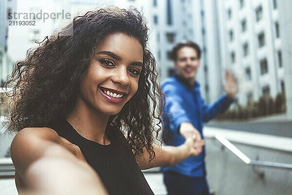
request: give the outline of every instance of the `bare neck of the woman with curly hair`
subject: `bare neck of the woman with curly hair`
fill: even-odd
[[[109,115],[96,112],[92,106],[84,101],[78,101],[74,111],[66,120],[83,137],[99,144],[108,145],[110,140],[106,136]]]

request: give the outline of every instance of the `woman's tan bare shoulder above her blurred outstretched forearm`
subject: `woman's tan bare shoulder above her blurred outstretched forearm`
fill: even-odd
[[[86,161],[77,145],[60,137],[55,130],[47,127],[22,129],[11,144],[11,158],[21,177],[24,176],[27,168],[41,157],[64,157],[67,152],[77,159]]]

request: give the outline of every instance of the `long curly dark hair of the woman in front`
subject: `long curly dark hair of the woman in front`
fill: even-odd
[[[79,92],[80,76],[85,73],[99,43],[108,35],[121,32],[133,37],[144,49],[143,69],[136,94],[122,111],[110,116],[108,125],[127,129],[127,139],[134,155],[155,157],[154,135],[161,130],[163,93],[159,85],[156,61],[147,49],[148,28],[137,9],[114,6],[77,16],[58,33],[46,38],[16,62],[7,79],[13,87],[8,107],[10,131],[25,127],[43,127],[66,117],[74,108]]]

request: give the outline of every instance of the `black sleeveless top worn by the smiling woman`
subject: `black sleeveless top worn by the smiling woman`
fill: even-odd
[[[124,135],[107,128],[109,145],[82,137],[66,119],[49,125],[59,136],[76,144],[87,162],[97,172],[110,195],[154,195],[150,189]]]

